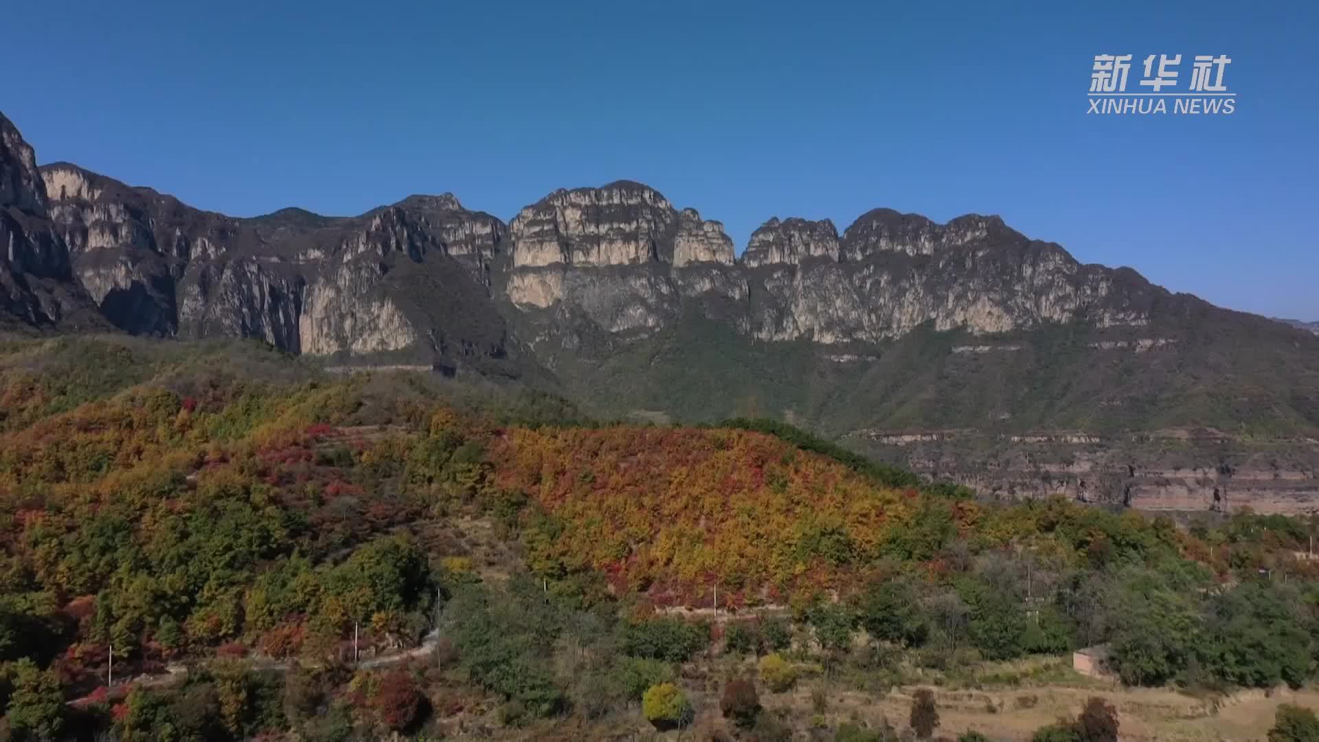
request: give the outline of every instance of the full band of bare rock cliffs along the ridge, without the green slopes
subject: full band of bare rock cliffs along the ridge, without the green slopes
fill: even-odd
[[[1165,296],[1134,272],[1080,265],[975,214],[939,224],[876,209],[842,235],[828,219],[773,218],[736,257],[720,222],[632,181],[557,190],[508,224],[448,193],[351,218],[233,218],[75,165],[38,169],[3,123],[5,301],[33,322],[62,312],[22,288],[45,277],[137,334],[500,358],[520,331],[625,341],[687,312],[760,341],[845,345],[926,323],[973,334],[1074,320],[1144,326]]]

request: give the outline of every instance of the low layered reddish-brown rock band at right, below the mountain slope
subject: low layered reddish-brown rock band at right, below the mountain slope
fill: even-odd
[[[1151,512],[1319,512],[1319,442],[1207,429],[1096,434],[1051,430],[860,430],[872,455],[987,496],[1068,499]]]

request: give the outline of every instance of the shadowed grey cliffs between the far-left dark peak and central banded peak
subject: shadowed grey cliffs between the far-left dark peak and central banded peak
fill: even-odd
[[[452,194],[355,218],[285,209],[237,219],[69,164],[41,174],[73,273],[128,331],[251,337],[317,355],[410,353],[446,367],[505,353],[488,290],[505,227]],[[446,296],[429,293],[441,285]],[[481,320],[437,327],[435,306]]]

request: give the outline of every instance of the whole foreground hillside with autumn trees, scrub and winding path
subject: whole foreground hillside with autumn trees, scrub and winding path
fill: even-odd
[[[976,500],[782,424],[244,343],[0,346],[0,519],[15,738],[881,739],[840,698],[1099,643],[1126,685],[1298,688],[1319,646],[1297,519]]]

